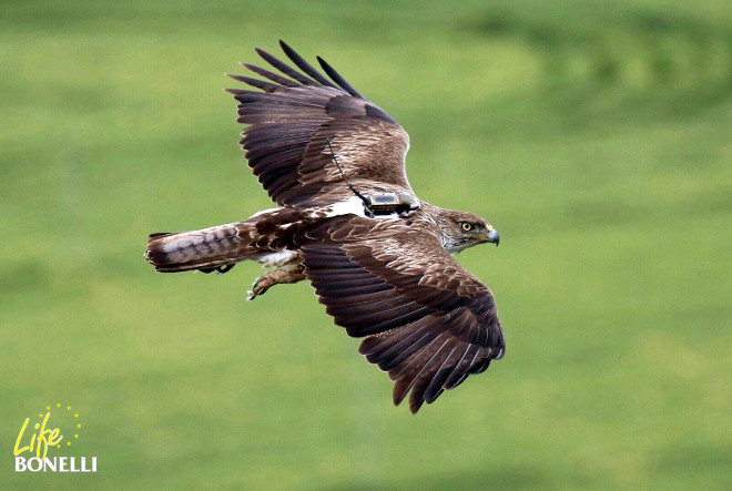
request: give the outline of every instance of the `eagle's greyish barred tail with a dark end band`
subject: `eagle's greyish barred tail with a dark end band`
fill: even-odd
[[[256,247],[250,245],[250,234],[246,233],[251,226],[241,222],[179,234],[151,234],[145,259],[162,273],[191,269],[226,273],[234,264],[257,253]]]

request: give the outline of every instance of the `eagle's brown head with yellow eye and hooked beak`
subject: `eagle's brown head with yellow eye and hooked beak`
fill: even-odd
[[[450,254],[478,244],[498,245],[498,232],[478,215],[446,209],[440,218],[437,222],[443,231],[443,246]]]

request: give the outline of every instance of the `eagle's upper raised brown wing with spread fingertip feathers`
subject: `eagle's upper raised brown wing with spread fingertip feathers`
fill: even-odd
[[[237,121],[250,125],[240,143],[270,197],[279,205],[312,206],[352,194],[331,147],[359,191],[411,193],[404,163],[409,136],[401,126],[319,57],[331,80],[279,44],[302,72],[257,49],[282,74],[244,64],[267,81],[230,76],[264,92],[227,89],[238,101]]]

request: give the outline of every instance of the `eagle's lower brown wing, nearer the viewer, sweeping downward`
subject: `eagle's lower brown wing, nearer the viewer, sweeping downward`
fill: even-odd
[[[398,221],[338,216],[297,239],[305,274],[359,351],[388,371],[394,403],[417,412],[504,356],[488,288],[437,237]]]

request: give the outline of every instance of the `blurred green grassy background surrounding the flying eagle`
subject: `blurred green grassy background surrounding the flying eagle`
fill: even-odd
[[[2,2],[3,489],[732,488],[732,3],[449,3]],[[221,89],[279,38],[500,231],[507,356],[417,416],[305,282],[143,260],[271,206]],[[13,472],[54,402],[96,474]]]

